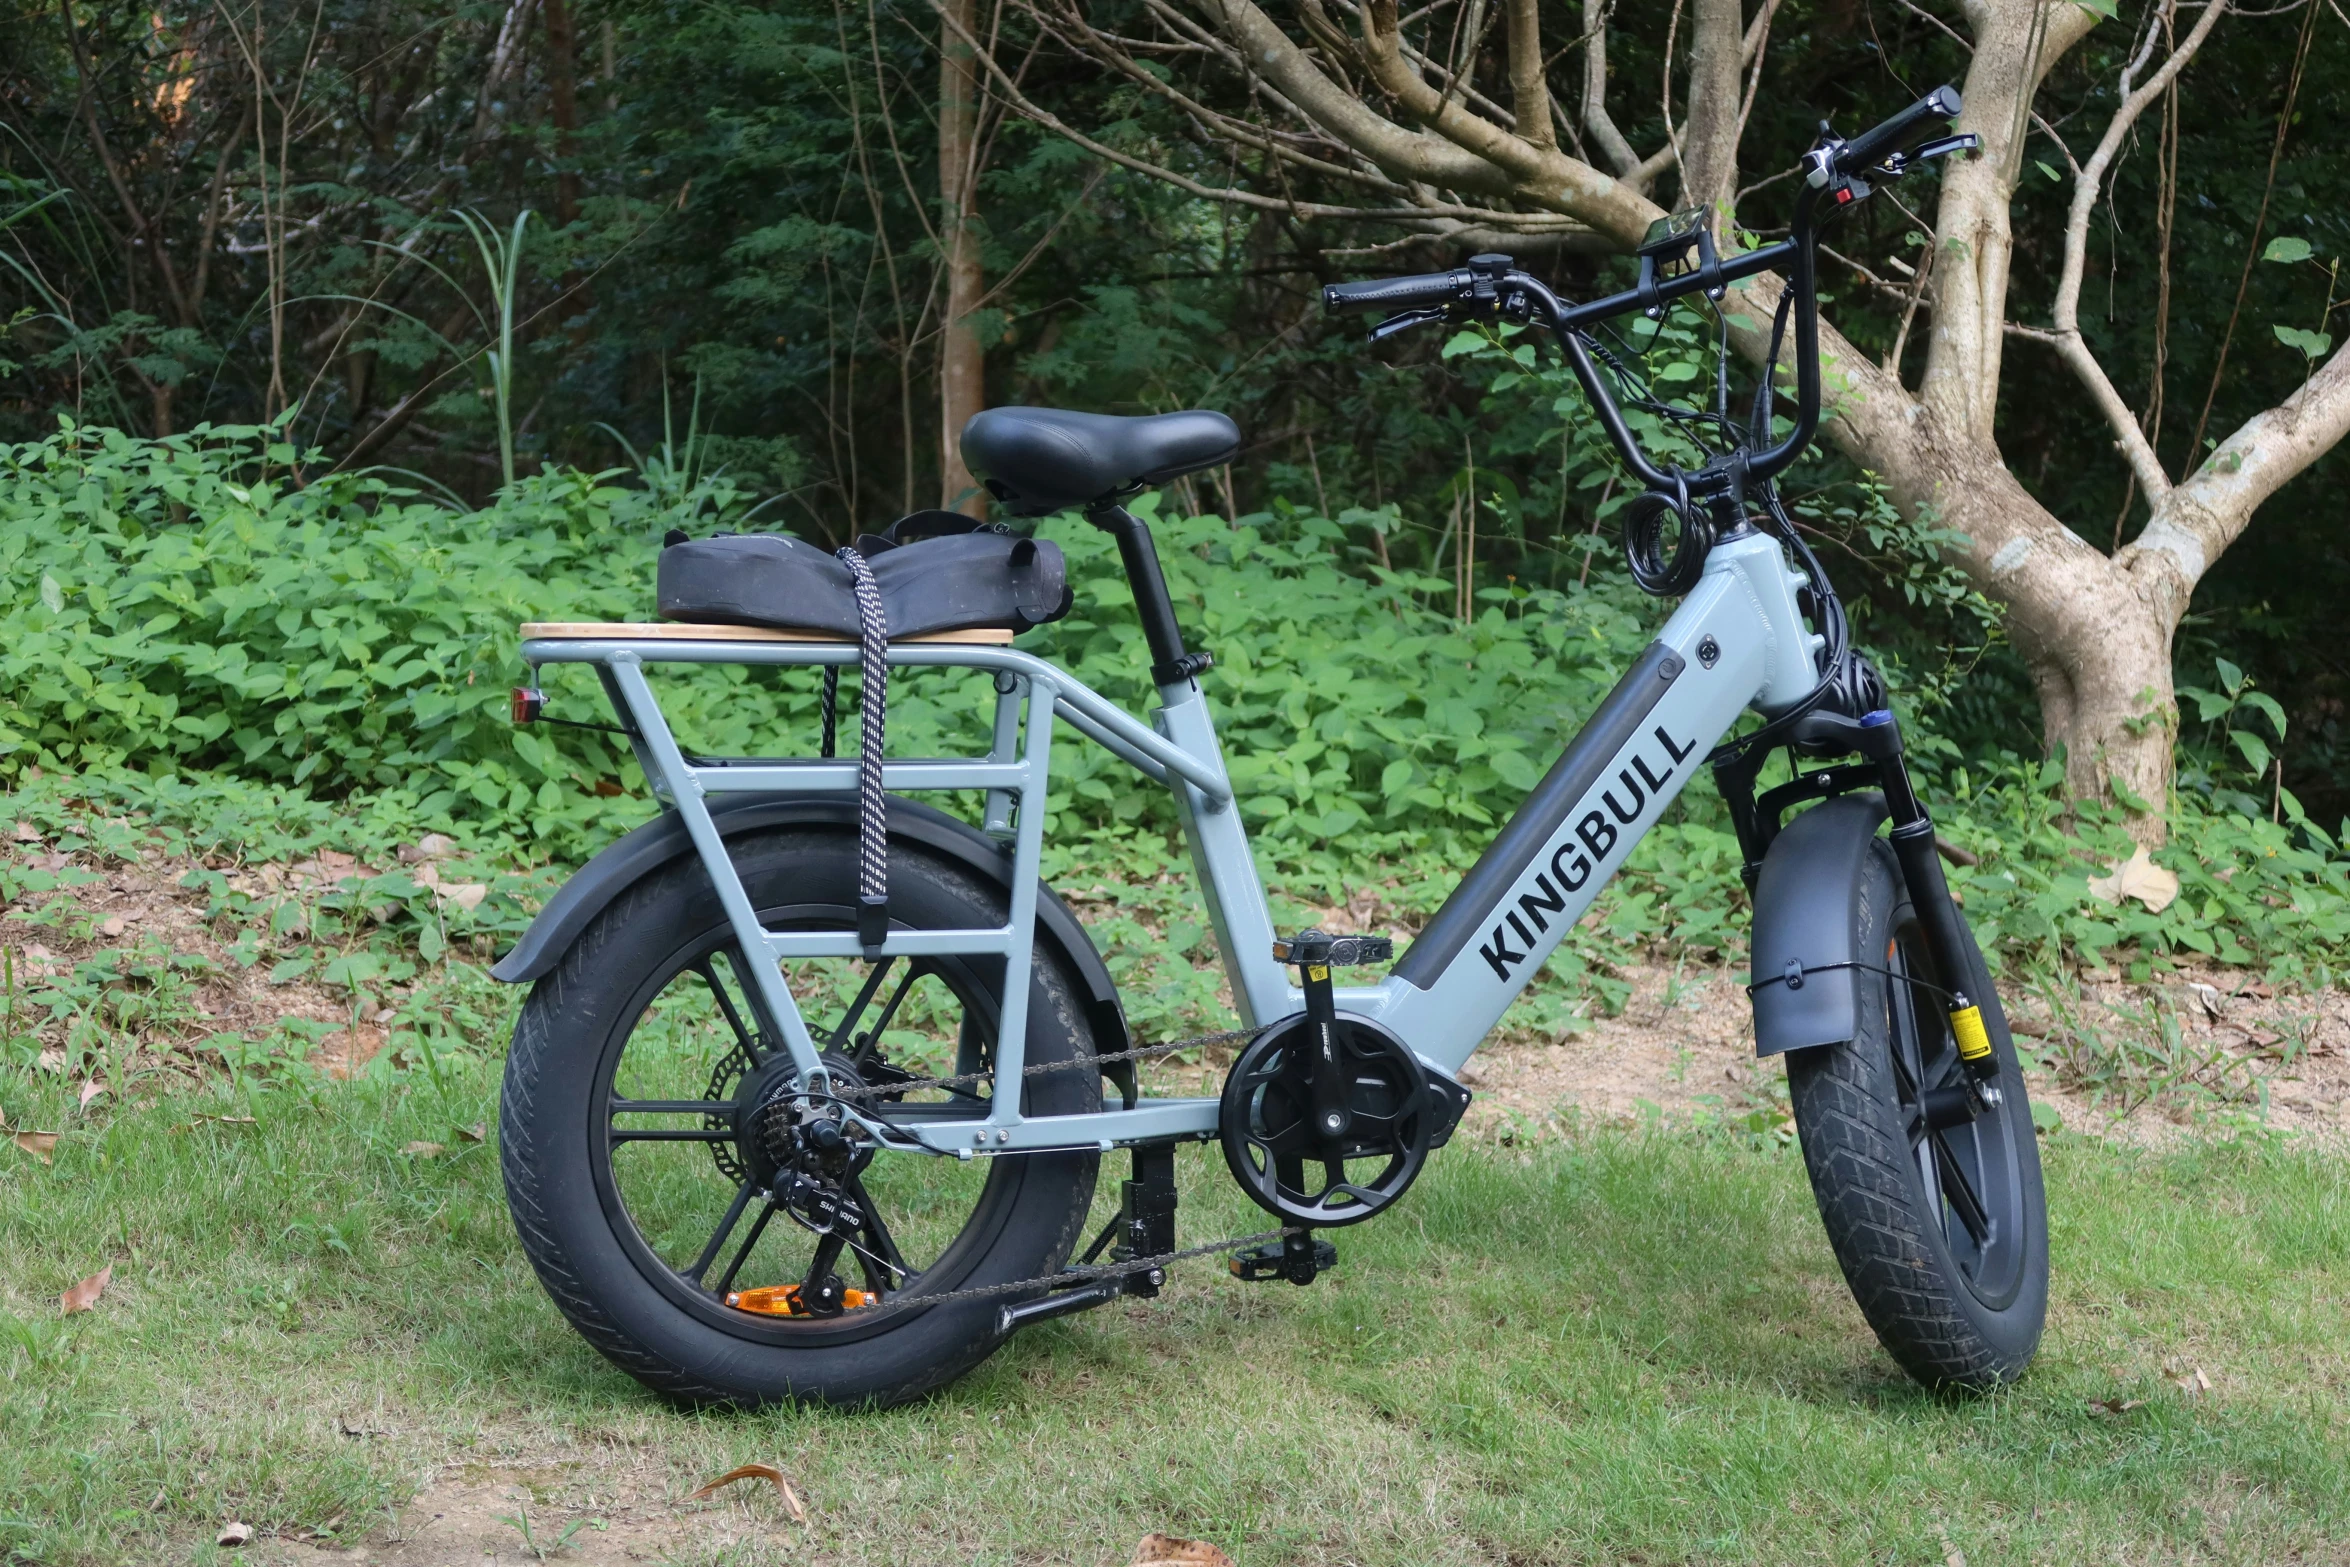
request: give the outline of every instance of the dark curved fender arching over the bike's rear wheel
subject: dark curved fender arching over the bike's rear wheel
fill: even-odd
[[[710,820],[719,836],[761,827],[841,827],[855,832],[855,803],[808,794],[731,794],[710,801]],[[921,801],[888,799],[888,834],[947,855],[956,865],[987,876],[1010,895],[1013,853],[1008,843],[989,839],[978,827],[924,806]],[[522,933],[515,949],[498,959],[489,975],[508,984],[529,984],[552,973],[562,963],[571,942],[595,921],[597,914],[620,895],[623,888],[651,876],[656,869],[693,853],[693,839],[674,811],[623,834],[595,860],[583,865],[555,897],[538,909],[531,928]],[[1126,1036],[1126,1008],[1119,1006],[1119,987],[1109,977],[1109,966],[1095,951],[1093,937],[1076,923],[1053,888],[1036,886],[1039,937],[1048,942],[1076,975],[1086,991],[1086,1020],[1093,1024],[1095,1048],[1104,1055],[1130,1048]]]

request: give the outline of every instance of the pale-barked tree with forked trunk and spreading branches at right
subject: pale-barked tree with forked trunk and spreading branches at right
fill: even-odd
[[[949,2],[933,0],[940,7]],[[1048,7],[1072,5],[1025,2],[1046,26],[1055,26]],[[1429,218],[1455,226],[1495,223],[1492,207],[1506,204],[1523,214],[1516,223],[1525,228],[1558,233],[1565,221],[1570,233],[1629,249],[1661,216],[1647,197],[1647,183],[1676,157],[1676,148],[1640,160],[1607,113],[1607,0],[1582,5],[1584,75],[1577,113],[1607,169],[1563,150],[1551,132],[1537,0],[1504,0],[1513,94],[1509,110],[1469,92],[1457,61],[1448,66],[1417,54],[1403,40],[1396,0],[1332,0],[1358,16],[1356,38],[1323,12],[1323,0],[1297,0],[1307,14],[1309,47],[1300,47],[1255,0],[1149,2],[1161,16],[1182,14],[1184,28],[1196,28],[1194,42],[1213,40],[1227,59],[1241,61],[1250,78],[1278,94],[1281,108],[1304,132],[1323,136],[1328,153],[1314,153],[1318,167],[1356,169],[1382,190],[1408,195]],[[1180,12],[1182,5],[1189,12]],[[1974,49],[1960,129],[1981,136],[1983,148],[1976,157],[1943,167],[1925,371],[1911,390],[1896,362],[1868,362],[1824,324],[1824,428],[1842,451],[1885,477],[1906,512],[1932,512],[1943,526],[1967,536],[1962,564],[1990,597],[2007,604],[2009,634],[2030,663],[2042,728],[2049,747],[2061,747],[2068,756],[2070,787],[2075,794],[2117,787],[2129,799],[2148,801],[2155,811],[2136,820],[2136,832],[2155,841],[2176,735],[2171,637],[2195,585],[2242,536],[2258,505],[2350,435],[2350,345],[2294,397],[2247,421],[2193,475],[2171,484],[2127,399],[2082,341],[2077,310],[2084,242],[2089,214],[2131,122],[2190,66],[2228,0],[2209,0],[2186,40],[2143,82],[2138,73],[2153,56],[2153,31],[2131,61],[2122,80],[2122,108],[2096,153],[2075,172],[2066,261],[2047,329],[2009,322],[2009,209],[2016,172],[2023,167],[2023,139],[2033,125],[2033,99],[2099,16],[2087,5],[2066,0],[1960,5]],[[1744,125],[1739,66],[1760,49],[1772,7],[1765,2],[1744,31],[1737,0],[1694,0],[1692,9],[1692,106],[1678,146],[1683,188],[1694,200],[1725,207],[1737,193],[1737,141]],[[1135,80],[1159,80],[1140,70],[1133,56],[1121,56],[1116,40],[1090,31],[1076,38],[1069,26],[1060,26],[1060,33],[1116,59]],[[989,68],[1020,113],[1128,167],[1149,169],[1128,153],[1112,153],[1062,127],[1020,99],[999,66]],[[1368,89],[1351,73],[1368,78]],[[1382,101],[1386,108],[1375,106]],[[1189,110],[1201,115],[1196,103]],[[1290,164],[1307,157],[1295,146],[1295,129],[1290,141],[1278,141],[1238,120],[1203,122],[1220,125],[1222,134],[1269,157]],[[1210,190],[1170,169],[1152,172],[1215,200],[1267,207],[1281,200]],[[1779,289],[1774,277],[1751,282],[1741,315],[1767,322]],[[1748,357],[1765,352],[1765,331],[1741,329],[1734,336]],[[2153,505],[2153,519],[2138,540],[2113,557],[2042,507],[2000,458],[1995,418],[2009,336],[2049,345],[2080,378]]]

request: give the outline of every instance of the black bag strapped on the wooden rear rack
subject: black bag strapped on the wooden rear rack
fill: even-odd
[[[881,590],[891,637],[999,627],[1025,632],[1069,613],[1060,545],[1013,538],[954,517],[968,531],[935,533],[924,512],[865,536],[858,552]],[[928,524],[928,526],[921,526]],[[905,533],[931,533],[900,543]],[[721,533],[670,543],[660,552],[660,618],[693,625],[858,634],[848,564],[783,533]]]

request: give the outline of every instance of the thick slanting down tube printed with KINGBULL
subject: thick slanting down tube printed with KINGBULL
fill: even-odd
[[[1713,641],[1706,663],[1699,648]],[[1598,768],[1572,768],[1579,787],[1556,829],[1516,867],[1499,867],[1504,881],[1490,888],[1473,926],[1443,968],[1426,973],[1403,963],[1379,987],[1368,1008],[1429,1062],[1455,1069],[1502,1020],[1509,1003],[1542,970],[1567,930],[1600,888],[1624,867],[1633,843],[1657,825],[1690,782],[1706,752],[1720,740],[1762,688],[1770,632],[1744,592],[1739,573],[1708,576],[1666,623],[1657,651],[1680,660],[1671,686]],[[1654,655],[1652,655],[1654,660]],[[1643,660],[1643,667],[1654,667]],[[1572,747],[1570,747],[1572,759]],[[1520,808],[1558,811],[1558,799],[1539,792]],[[1506,834],[1504,834],[1506,836]],[[1497,843],[1499,846],[1499,843]],[[1511,855],[1516,858],[1516,855]],[[1480,879],[1471,872],[1469,883]],[[1723,888],[1690,888],[1699,897],[1725,897]],[[1443,916],[1438,916],[1441,921]],[[1455,926],[1459,928],[1459,926]],[[1429,933],[1436,923],[1429,926]],[[1429,937],[1422,933],[1422,942]],[[1365,996],[1368,998],[1368,996]],[[1351,1006],[1354,998],[1342,998]]]

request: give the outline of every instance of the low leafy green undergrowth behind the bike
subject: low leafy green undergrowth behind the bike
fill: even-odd
[[[1504,374],[1532,374],[1516,350],[1492,352]],[[724,475],[693,477],[691,437],[689,451],[646,460],[649,486],[550,470],[482,512],[367,475],[310,472],[296,486],[294,460],[270,430],[139,442],[63,428],[0,449],[0,778],[16,820],[49,841],[204,862],[188,886],[230,933],[228,961],[266,966],[273,982],[322,982],[357,1008],[430,987],[446,956],[519,930],[564,865],[651,813],[613,738],[508,724],[517,625],[646,618],[663,529],[740,524],[743,505]],[[1180,616],[1217,655],[1203,681],[1283,921],[1363,895],[1405,926],[1431,914],[1659,618],[1619,576],[1596,573],[1556,590],[1480,587],[1473,618],[1459,620],[1452,580],[1382,564],[1394,507],[1332,519],[1276,505],[1234,526],[1156,505],[1144,510]],[[1979,599],[1932,561],[1943,540],[1899,522],[1873,484],[1814,498],[1810,517],[1849,554],[1875,552],[1882,592],[1950,623],[1979,616]],[[1147,653],[1109,540],[1067,517],[1046,533],[1067,552],[1076,611],[1025,646],[1147,709]],[[1899,686],[1925,693],[1904,695],[1913,752],[1939,773],[1946,836],[1979,855],[1953,869],[1953,886],[1998,961],[2035,975],[2120,963],[2136,980],[2216,961],[2294,984],[2350,966],[2350,858],[2263,778],[2284,709],[2242,670],[2221,660],[2218,686],[2181,688],[2195,721],[2157,862],[2183,890],[2155,912],[2089,893],[2134,843],[2117,815],[2068,806],[2056,764],[1983,759],[1934,733],[1962,655],[1943,648],[1939,679]],[[813,749],[813,672],[658,679],[691,749]],[[588,672],[548,670],[545,684],[559,717],[604,717]],[[982,679],[909,672],[891,698],[900,754],[985,745]],[[479,883],[475,907],[397,865],[392,850],[425,832],[456,839],[439,879]],[[1095,926],[1137,1027],[1210,1027],[1213,942],[1163,792],[1065,738],[1048,841],[1048,879]],[[322,848],[360,865],[301,886],[237,872]],[[1737,869],[1699,775],[1513,1027],[1572,1031],[1593,1008],[1622,1006],[1622,970],[1636,961],[1737,959]],[[35,923],[87,919],[73,897],[82,879],[9,865],[0,897]],[[99,1050],[179,1017],[200,980],[164,949],[132,949],[12,989],[9,1006],[24,1010],[16,1027]],[[465,1048],[449,1006],[404,1008],[404,1060]],[[214,1048],[273,1071],[310,1043],[287,1024]]]

